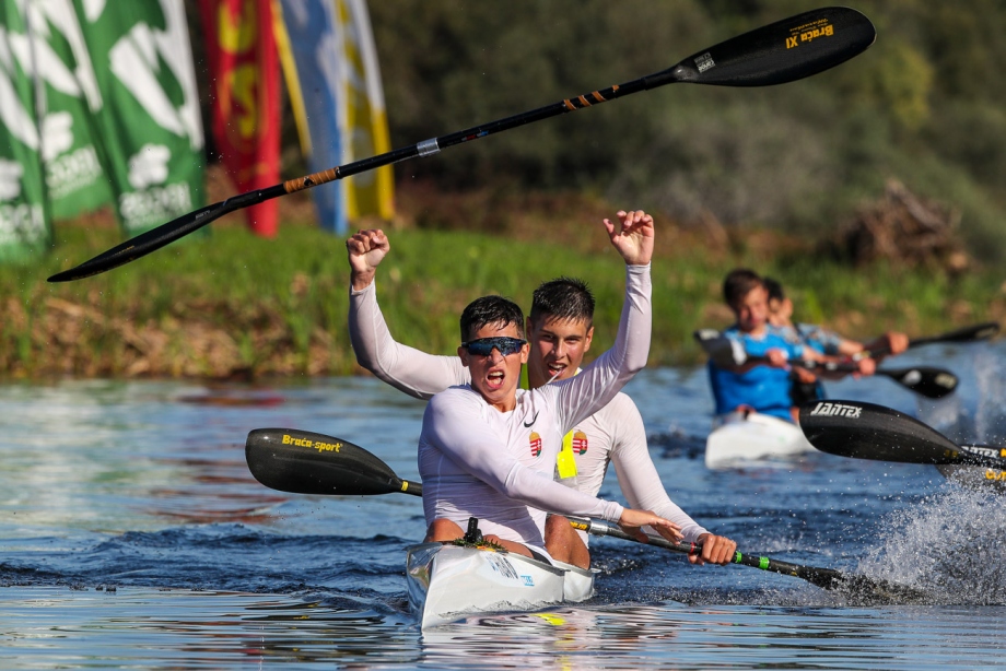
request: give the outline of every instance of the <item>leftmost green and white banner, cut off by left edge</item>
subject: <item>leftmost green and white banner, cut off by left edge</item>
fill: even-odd
[[[0,260],[25,260],[51,239],[25,16],[0,2]]]

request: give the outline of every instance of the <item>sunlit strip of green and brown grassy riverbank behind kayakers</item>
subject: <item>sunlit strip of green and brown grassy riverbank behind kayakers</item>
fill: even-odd
[[[545,236],[543,238],[540,236]],[[285,225],[274,240],[224,225],[118,270],[69,284],[45,278],[117,242],[110,228],[59,229],[57,254],[27,268],[0,268],[5,377],[340,375],[354,372],[346,333],[346,250],[314,226]],[[598,298],[596,353],[610,344],[623,271],[599,224],[555,223],[500,235],[407,228],[389,232],[378,274],[393,333],[453,353],[457,317],[472,298],[502,293],[525,309],[538,283],[585,278]],[[1001,279],[975,270],[852,269],[806,251],[769,258],[756,244],[714,250],[694,234],[662,231],[654,267],[652,364],[700,361],[691,332],[729,315],[720,283],[750,266],[788,287],[797,316],[850,337],[899,328],[912,334],[1002,318]]]

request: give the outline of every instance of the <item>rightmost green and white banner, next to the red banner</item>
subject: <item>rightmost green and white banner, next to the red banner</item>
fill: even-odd
[[[183,0],[73,5],[104,101],[96,122],[124,233],[202,207],[202,120]]]

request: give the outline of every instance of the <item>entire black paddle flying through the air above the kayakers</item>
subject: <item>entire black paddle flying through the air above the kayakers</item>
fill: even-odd
[[[265,189],[234,196],[126,240],[80,266],[56,273],[49,278],[49,282],[80,280],[112,270],[160,249],[224,214],[279,196],[365,173],[399,161],[430,156],[455,144],[478,140],[511,128],[534,123],[640,91],[679,82],[715,86],[770,86],[804,79],[833,68],[863,52],[874,43],[876,36],[873,24],[856,10],[832,7],[804,12],[702,49],[667,70],[624,84],[592,91],[505,119],[423,140],[411,146],[396,149],[328,170],[290,179]]]

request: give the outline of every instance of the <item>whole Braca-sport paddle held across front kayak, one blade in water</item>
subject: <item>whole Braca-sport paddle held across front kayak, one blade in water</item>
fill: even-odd
[[[264,485],[295,494],[411,494],[422,496],[422,484],[402,480],[379,458],[342,438],[294,428],[257,428],[248,434],[245,458]],[[695,543],[674,543],[658,535],[643,541],[604,520],[568,518],[574,528],[594,535],[611,535],[657,545],[682,554],[701,553]],[[817,568],[765,556],[734,554],[734,564],[802,578],[822,589],[839,590],[863,603],[923,602],[925,595],[906,586],[832,568]]]

